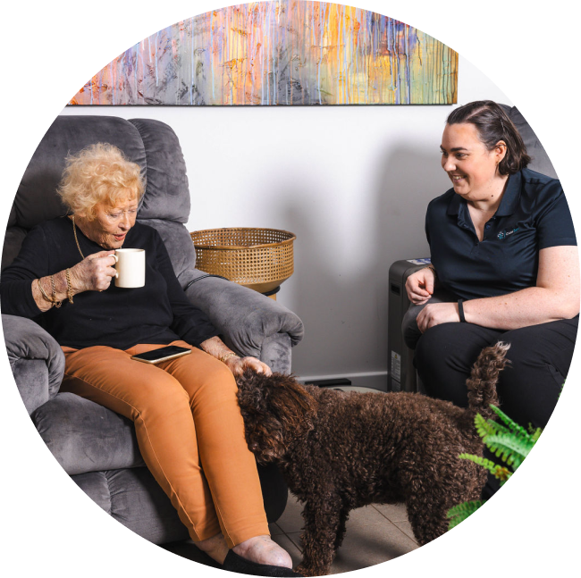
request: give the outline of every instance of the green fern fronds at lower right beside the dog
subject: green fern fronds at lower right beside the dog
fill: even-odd
[[[565,383],[563,382],[560,394],[564,387]],[[531,453],[535,447],[535,443],[541,437],[543,430],[541,428],[531,428],[529,431],[526,431],[525,428],[511,420],[501,409],[496,406],[491,407],[494,413],[500,418],[500,421],[495,422],[492,419],[485,420],[482,415],[477,414],[474,420],[476,431],[484,441],[484,445],[496,457],[500,457],[504,465],[496,464],[485,457],[474,456],[472,454],[460,454],[459,457],[472,460],[476,464],[484,467],[488,472],[493,473],[494,477],[500,481],[502,487],[509,481],[512,475],[518,470],[518,467],[525,461],[525,458]],[[468,517],[483,507],[485,503],[486,500],[484,499],[464,502],[458,506],[451,507],[448,511],[448,518],[450,518],[448,530],[452,530],[467,520]]]

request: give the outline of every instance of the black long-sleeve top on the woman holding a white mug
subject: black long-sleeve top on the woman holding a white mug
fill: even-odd
[[[103,251],[77,228],[85,256]],[[88,348],[104,345],[128,349],[138,343],[170,343],[183,339],[199,346],[218,335],[200,309],[189,303],[173,272],[159,233],[136,223],[123,247],[146,251],[145,287],[122,289],[114,280],[105,291],[84,291],[46,313],[32,297],[31,282],[78,264],[82,257],[75,243],[72,222],[59,217],[30,230],[21,252],[0,274],[0,311],[34,319],[62,346]]]

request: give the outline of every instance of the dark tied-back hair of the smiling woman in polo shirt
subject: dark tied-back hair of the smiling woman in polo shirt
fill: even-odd
[[[507,146],[507,154],[498,165],[501,174],[514,174],[526,168],[531,162],[531,157],[526,154],[525,143],[517,127],[502,107],[492,100],[476,100],[459,106],[450,113],[446,122],[448,124],[460,122],[474,124],[480,140],[488,150],[493,150],[499,140],[503,140]]]

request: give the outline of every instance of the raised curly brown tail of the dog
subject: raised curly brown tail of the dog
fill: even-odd
[[[496,384],[499,373],[506,364],[510,363],[506,358],[509,348],[509,343],[499,341],[493,346],[484,348],[476,359],[470,377],[466,381],[468,390],[467,417],[471,423],[474,423],[476,414],[482,415],[484,419],[496,416],[490,406],[499,405]]]

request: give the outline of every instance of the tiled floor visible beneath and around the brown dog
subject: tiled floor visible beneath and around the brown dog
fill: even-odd
[[[300,529],[303,525],[299,503],[289,496],[284,514],[271,526],[273,540],[286,549],[295,565],[300,561]],[[198,564],[220,567],[190,541],[163,547],[176,556]],[[367,506],[349,515],[347,533],[333,562],[331,574],[344,574],[383,564],[418,548],[404,506]]]

